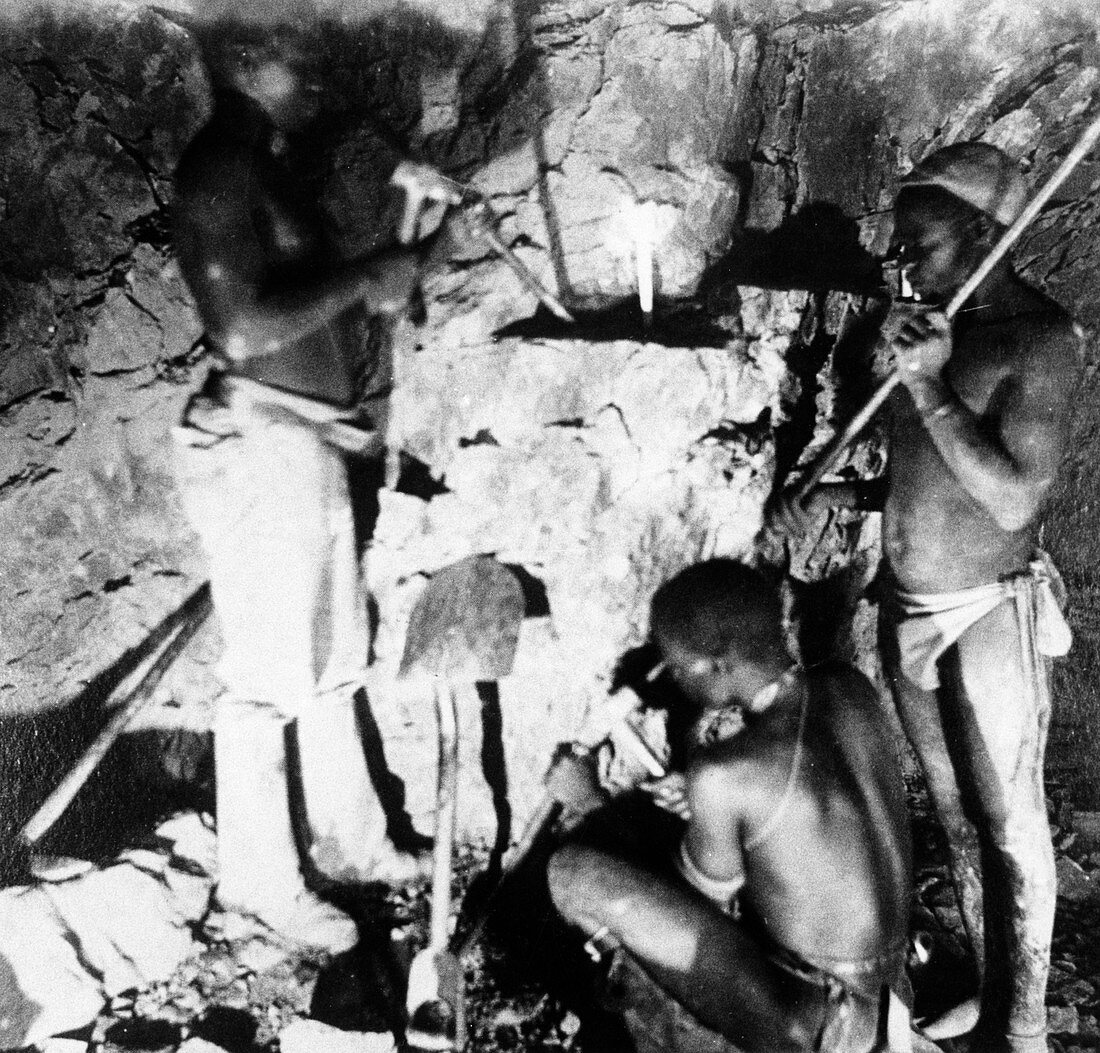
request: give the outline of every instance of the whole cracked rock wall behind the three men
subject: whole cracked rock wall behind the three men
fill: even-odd
[[[473,28],[428,20],[450,42],[438,50],[410,43],[418,25],[402,20],[414,7],[333,29],[355,42],[333,89],[348,95],[344,117],[355,92],[377,101],[375,121],[345,120],[328,155],[321,193],[349,254],[392,227],[383,180],[396,155],[382,127],[472,179],[506,240],[573,307],[632,303],[629,207],[656,202],[658,309],[683,308],[650,341],[626,310],[598,338],[495,336],[536,303],[474,248],[429,279],[427,323],[392,333],[389,441],[416,481],[377,495],[371,692],[418,821],[432,799],[431,708],[393,679],[431,572],[492,552],[522,568],[535,596],[499,700],[471,691],[464,704],[464,822],[486,833],[485,772],[528,807],[553,744],[642,641],[661,580],[715,553],[782,559],[755,549],[762,504],[777,465],[805,462],[858,394],[833,349],[869,309],[899,171],[981,136],[1036,183],[1047,176],[1094,111],[1088,7],[563,0],[486,9]],[[140,6],[10,19],[0,59],[0,713],[11,716],[77,696],[205,577],[169,431],[207,360],[169,231],[173,167],[209,91],[187,31]],[[1057,670],[1052,759],[1093,803],[1098,186],[1090,157],[1016,250],[1088,334],[1044,539],[1077,633]],[[851,463],[880,461],[870,440]],[[831,520],[791,562],[813,584],[807,617],[872,673],[862,589],[876,531],[873,518]],[[210,633],[166,681],[168,723],[208,723],[217,652]]]

